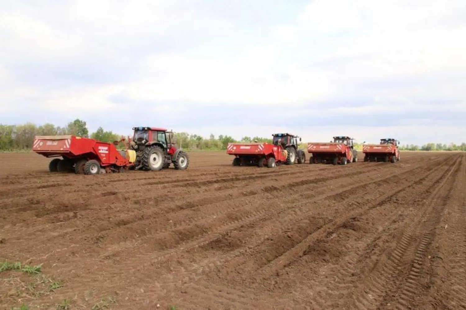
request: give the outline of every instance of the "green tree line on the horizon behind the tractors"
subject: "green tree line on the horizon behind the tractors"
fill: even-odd
[[[89,135],[86,122],[80,119],[75,119],[65,126],[55,126],[54,124],[46,123],[37,126],[34,123],[26,123],[23,125],[4,125],[0,124],[0,151],[22,151],[32,148],[35,135],[76,135],[81,137],[90,137],[102,142],[119,141],[121,135],[117,135],[110,130],[104,130],[102,127]],[[272,143],[271,138],[263,137],[242,137],[240,140],[235,140],[229,135],[219,135],[216,137],[211,134],[208,139],[195,134],[186,132],[174,133],[175,141],[178,146],[187,150],[225,150],[228,143],[232,142],[268,142]],[[301,148],[305,148],[304,143]],[[356,149],[362,149],[362,145],[355,143]],[[456,145],[450,143],[448,145],[442,143],[427,143],[422,146],[414,144],[406,144],[400,147],[402,150],[411,151],[466,151],[466,143]]]

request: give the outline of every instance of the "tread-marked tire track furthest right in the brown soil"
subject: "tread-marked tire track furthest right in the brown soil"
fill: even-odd
[[[432,241],[435,224],[439,221],[437,208],[441,207],[435,206],[435,203],[441,199],[439,192],[444,189],[458,164],[459,158],[439,179],[439,184],[428,199],[429,202],[406,228],[388,260],[383,263],[378,261],[372,272],[366,276],[367,281],[353,292],[357,309],[385,309],[385,306],[387,309],[404,309],[412,296],[419,292],[416,291],[416,287],[419,285],[422,260]]]

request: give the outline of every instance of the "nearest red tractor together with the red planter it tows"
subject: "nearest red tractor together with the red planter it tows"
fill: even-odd
[[[50,172],[97,175],[126,169],[186,169],[189,156],[173,141],[173,132],[164,128],[135,127],[133,138],[113,143],[75,135],[35,136],[33,151],[57,157],[49,163]],[[117,149],[123,142],[124,149]],[[62,158],[59,158],[62,157]]]

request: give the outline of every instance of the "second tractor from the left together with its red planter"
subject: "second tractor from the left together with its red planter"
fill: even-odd
[[[226,153],[234,155],[233,166],[267,166],[277,164],[293,165],[306,162],[304,151],[298,149],[298,137],[291,134],[274,134],[272,144],[267,142],[230,143]],[[301,141],[301,138],[299,138]]]

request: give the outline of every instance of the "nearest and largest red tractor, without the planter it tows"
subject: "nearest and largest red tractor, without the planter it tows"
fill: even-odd
[[[160,170],[170,167],[186,169],[189,157],[173,141],[173,132],[165,128],[135,127],[130,148],[136,151],[134,169]]]

